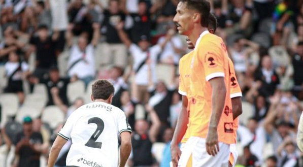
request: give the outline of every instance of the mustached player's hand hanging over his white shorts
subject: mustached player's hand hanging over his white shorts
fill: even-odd
[[[206,151],[209,155],[216,156],[219,152],[217,128],[209,128],[206,137]]]

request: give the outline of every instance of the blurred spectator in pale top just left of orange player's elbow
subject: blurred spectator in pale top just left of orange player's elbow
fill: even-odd
[[[181,96],[178,91],[175,91],[172,97],[172,103],[170,107],[170,121],[172,128],[176,127],[181,106],[182,106]]]

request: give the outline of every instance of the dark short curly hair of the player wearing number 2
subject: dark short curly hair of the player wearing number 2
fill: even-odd
[[[97,80],[92,84],[92,97],[94,99],[108,99],[114,94],[115,88],[108,80]]]

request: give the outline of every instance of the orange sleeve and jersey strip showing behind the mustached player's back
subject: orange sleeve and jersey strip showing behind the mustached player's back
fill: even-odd
[[[241,88],[238,84],[238,80],[237,77],[235,76],[235,72],[234,72],[234,67],[233,67],[233,63],[230,60],[230,58],[228,58],[228,62],[229,62],[229,83],[230,83],[230,98],[232,101],[232,98],[234,97],[242,97],[242,91]],[[234,143],[235,141],[237,141],[237,129],[238,129],[238,124],[239,124],[239,119],[238,117],[235,118],[233,120],[233,137],[234,137]]]

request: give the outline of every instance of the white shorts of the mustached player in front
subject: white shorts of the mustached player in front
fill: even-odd
[[[182,150],[178,167],[228,167],[229,145],[219,143],[220,151],[216,156],[206,151],[206,139],[190,137]]]

